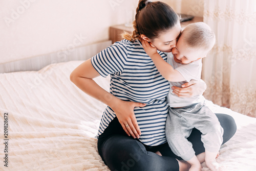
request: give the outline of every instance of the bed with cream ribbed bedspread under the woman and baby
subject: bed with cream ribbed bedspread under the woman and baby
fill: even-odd
[[[69,80],[72,70],[82,62],[0,74],[0,170],[110,170],[98,154],[95,138],[105,105]],[[109,90],[109,77],[95,81]],[[207,106],[233,116],[238,127],[221,146],[217,161],[226,170],[256,170],[256,118],[210,101]],[[8,113],[7,137],[4,113]],[[8,142],[8,153],[3,141]],[[8,167],[3,162],[6,154]],[[205,163],[202,166],[208,170]]]

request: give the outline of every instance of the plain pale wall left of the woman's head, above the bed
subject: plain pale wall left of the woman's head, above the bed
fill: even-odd
[[[135,5],[135,6],[134,6]],[[0,1],[0,64],[109,39],[130,0]]]

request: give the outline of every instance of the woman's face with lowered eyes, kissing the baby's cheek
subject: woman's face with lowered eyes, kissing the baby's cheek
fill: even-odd
[[[172,48],[176,46],[177,39],[181,33],[180,22],[172,29],[160,34],[158,38],[151,40],[151,43],[156,46],[158,51],[172,52]]]

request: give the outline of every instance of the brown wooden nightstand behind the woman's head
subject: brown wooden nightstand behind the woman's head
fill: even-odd
[[[184,28],[190,23],[201,22],[201,21],[203,21],[203,17],[194,17],[192,20],[181,22],[180,25],[181,25],[181,28]],[[112,43],[122,40],[121,34],[124,31],[132,34],[134,29],[133,27],[125,27],[124,25],[117,25],[117,26],[110,27],[109,33],[110,33],[110,40],[112,40]]]

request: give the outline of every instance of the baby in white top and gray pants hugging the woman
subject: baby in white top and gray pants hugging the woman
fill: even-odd
[[[215,34],[204,22],[192,23],[182,31],[176,47],[167,54],[167,62],[152,43],[142,42],[145,52],[171,87],[181,87],[190,80],[200,80],[202,58],[206,57],[214,44]],[[220,170],[215,158],[223,141],[223,128],[217,116],[205,106],[203,95],[178,97],[170,89],[167,102],[169,114],[165,133],[172,151],[191,165],[189,171],[201,170],[201,163],[191,142],[187,140],[192,129],[196,128],[202,133],[207,167],[212,171]]]

